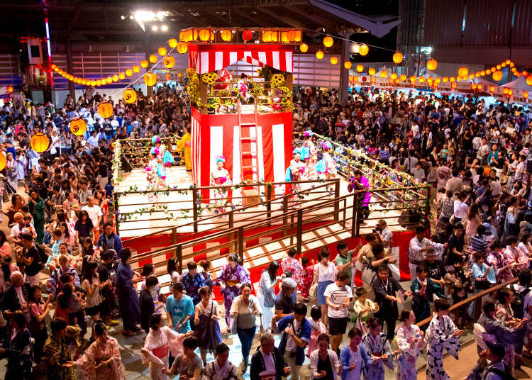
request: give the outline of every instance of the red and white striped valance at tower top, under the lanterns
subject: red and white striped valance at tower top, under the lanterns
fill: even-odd
[[[294,52],[286,45],[191,45],[189,66],[198,74],[215,72],[238,61],[270,66],[284,72],[294,71]],[[194,50],[197,48],[197,50]]]

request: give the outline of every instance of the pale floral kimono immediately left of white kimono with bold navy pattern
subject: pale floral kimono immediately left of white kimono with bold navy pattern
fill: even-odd
[[[397,348],[399,348],[401,353],[397,358],[397,380],[416,380],[418,378],[416,359],[419,357],[419,352],[426,347],[427,343],[423,339],[414,345],[414,347],[410,347],[410,342],[420,336],[419,327],[416,325],[410,325],[409,328],[404,324],[399,326],[396,341]]]

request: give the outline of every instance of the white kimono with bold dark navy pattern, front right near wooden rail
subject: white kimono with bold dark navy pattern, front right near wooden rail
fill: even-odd
[[[443,349],[458,360],[460,342],[458,337],[452,337],[456,326],[448,315],[438,318],[434,315],[428,325],[425,339],[428,342],[427,349],[427,380],[450,380],[443,370]]]

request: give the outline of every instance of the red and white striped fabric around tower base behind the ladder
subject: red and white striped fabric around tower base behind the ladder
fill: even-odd
[[[242,115],[242,123],[254,123],[253,114]],[[248,120],[249,119],[249,120]],[[255,138],[255,127],[242,133]],[[282,182],[292,160],[292,113],[266,113],[257,116],[257,138],[251,149],[257,152],[253,166],[255,180]],[[192,108],[192,178],[196,186],[211,186],[211,172],[216,167],[214,158],[226,157],[224,167],[233,183],[240,183],[240,126],[238,115],[201,115]],[[204,199],[209,194],[203,194]]]

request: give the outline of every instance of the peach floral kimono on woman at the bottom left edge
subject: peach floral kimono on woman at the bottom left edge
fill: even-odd
[[[111,364],[96,368],[100,362],[109,360],[110,358],[112,358]],[[92,343],[85,350],[82,357],[74,363],[76,364],[80,380],[125,379],[118,342],[113,337],[107,337],[103,347],[99,345],[98,341]]]

